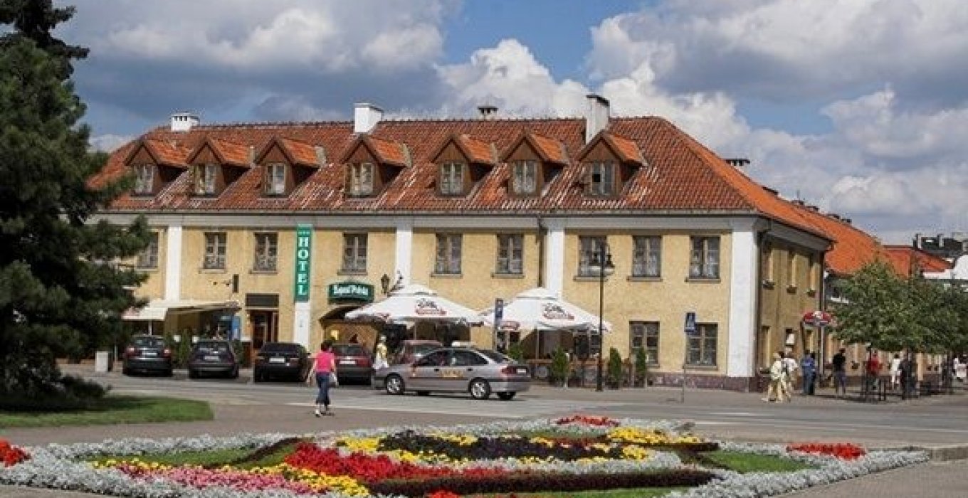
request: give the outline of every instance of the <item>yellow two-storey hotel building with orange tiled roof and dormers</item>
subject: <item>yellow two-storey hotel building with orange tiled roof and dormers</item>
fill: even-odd
[[[846,275],[876,240],[783,199],[658,117],[202,125],[181,113],[111,154],[92,182],[133,175],[100,219],[144,215],[152,244],[132,261],[156,334],[235,334],[311,346],[391,329],[344,315],[394,285],[421,283],[469,308],[535,286],[613,324],[603,348],[645,348],[658,384],[746,390],[772,351],[820,344],[805,312],[825,276]],[[591,271],[600,249],[615,273]],[[877,251],[874,251],[877,252]],[[856,261],[857,260],[857,261]],[[695,333],[684,332],[695,313]],[[391,331],[392,332],[392,331]],[[421,337],[490,345],[483,328]],[[522,333],[541,359],[582,337]],[[586,340],[588,337],[585,338]],[[315,348],[312,348],[315,349]],[[684,368],[683,368],[684,364]]]

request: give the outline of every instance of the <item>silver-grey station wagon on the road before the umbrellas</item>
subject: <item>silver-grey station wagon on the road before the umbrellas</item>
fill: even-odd
[[[374,387],[390,395],[415,392],[469,393],[509,400],[531,386],[529,366],[493,349],[440,347],[412,364],[391,365],[374,373]]]

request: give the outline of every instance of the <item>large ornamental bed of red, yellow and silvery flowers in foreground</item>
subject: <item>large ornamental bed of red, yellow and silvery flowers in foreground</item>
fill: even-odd
[[[204,449],[284,447],[278,463],[166,465],[146,455]],[[9,445],[8,445],[9,447]],[[291,451],[288,449],[291,448]],[[813,465],[740,474],[695,463],[715,449]],[[9,447],[9,451],[19,451]],[[436,496],[678,486],[669,496],[769,496],[923,461],[916,452],[864,452],[854,445],[716,443],[670,422],[575,416],[527,422],[390,427],[341,433],[241,434],[27,448],[0,483],[118,496]],[[94,460],[94,461],[89,461]],[[278,461],[278,460],[277,460]],[[260,462],[261,463],[261,462]]]

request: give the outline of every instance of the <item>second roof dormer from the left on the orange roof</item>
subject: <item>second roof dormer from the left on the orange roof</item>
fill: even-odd
[[[250,169],[254,160],[254,150],[249,145],[206,138],[187,161],[192,168],[192,193],[218,196]]]

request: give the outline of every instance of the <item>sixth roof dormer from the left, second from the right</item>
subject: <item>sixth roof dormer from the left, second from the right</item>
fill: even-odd
[[[535,197],[568,164],[568,154],[560,141],[524,132],[508,147],[500,161],[508,166],[508,193],[515,197]]]

